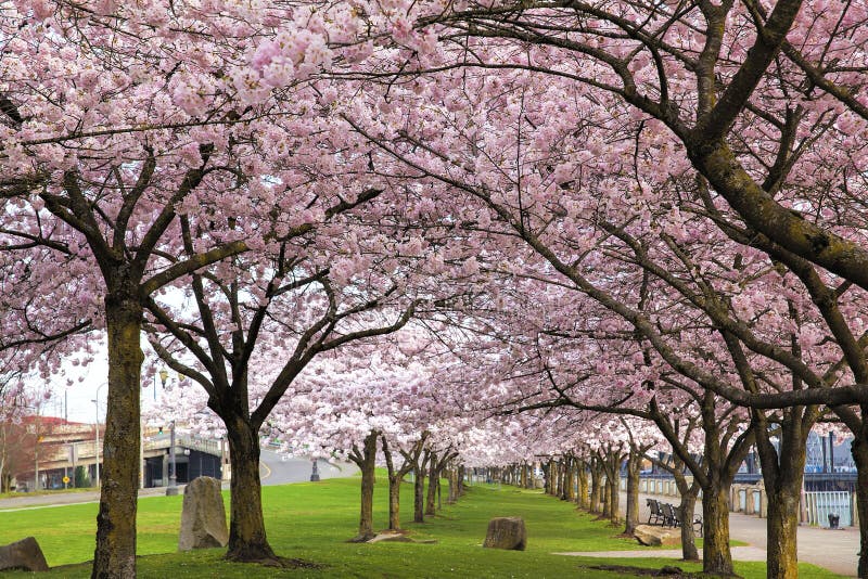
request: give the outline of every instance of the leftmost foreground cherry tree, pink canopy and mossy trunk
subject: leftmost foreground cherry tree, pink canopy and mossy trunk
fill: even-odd
[[[72,318],[105,331],[110,368],[93,576],[133,577],[143,307],[248,248],[250,221],[233,230],[216,218],[254,214],[275,185],[244,184],[264,177],[247,145],[259,127],[247,123],[294,114],[268,98],[328,65],[324,36],[283,7],[39,0],[3,10],[0,194],[14,207],[4,245],[39,245],[48,262],[85,270]],[[293,30],[298,42],[277,38]],[[180,216],[207,232],[193,252]],[[30,285],[51,281],[54,269],[31,265]]]

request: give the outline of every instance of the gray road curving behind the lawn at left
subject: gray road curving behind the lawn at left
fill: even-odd
[[[317,468],[321,479],[353,476],[358,472],[354,464],[324,460],[317,461]],[[290,458],[279,452],[264,450],[259,460],[259,476],[263,485],[286,485],[290,483],[304,483],[310,480],[312,462],[309,459]],[[179,485],[183,493],[183,485]],[[224,488],[229,488],[229,483],[224,483]],[[139,497],[159,497],[166,494],[165,487],[140,489]],[[47,509],[63,504],[97,503],[100,493],[93,491],[63,492],[56,494],[29,494],[22,492],[16,497],[0,499],[0,512],[25,511],[31,509]]]

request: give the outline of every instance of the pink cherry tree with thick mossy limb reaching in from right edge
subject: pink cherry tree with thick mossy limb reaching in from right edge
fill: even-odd
[[[656,159],[689,160],[710,185],[705,214],[717,219],[732,211],[740,239],[783,261],[826,310],[859,385],[835,389],[846,390],[848,402],[865,403],[858,333],[837,312],[850,284],[866,287],[863,220],[851,213],[861,213],[853,200],[864,186],[857,136],[868,116],[860,99],[865,38],[848,31],[864,23],[861,7],[781,0],[770,7],[700,2],[680,11],[522,2],[445,10],[412,4],[396,12],[422,26],[439,23],[405,37],[455,42],[459,65],[569,79],[596,93],[593,107],[613,95],[629,105],[625,115],[653,119],[644,129],[671,143]],[[424,57],[405,56],[412,63],[404,66],[407,75],[424,68]],[[837,404],[832,398],[842,394],[816,386],[791,391],[778,400]],[[856,433],[861,462],[865,426],[845,406],[837,408]],[[866,555],[859,575],[868,576]]]

